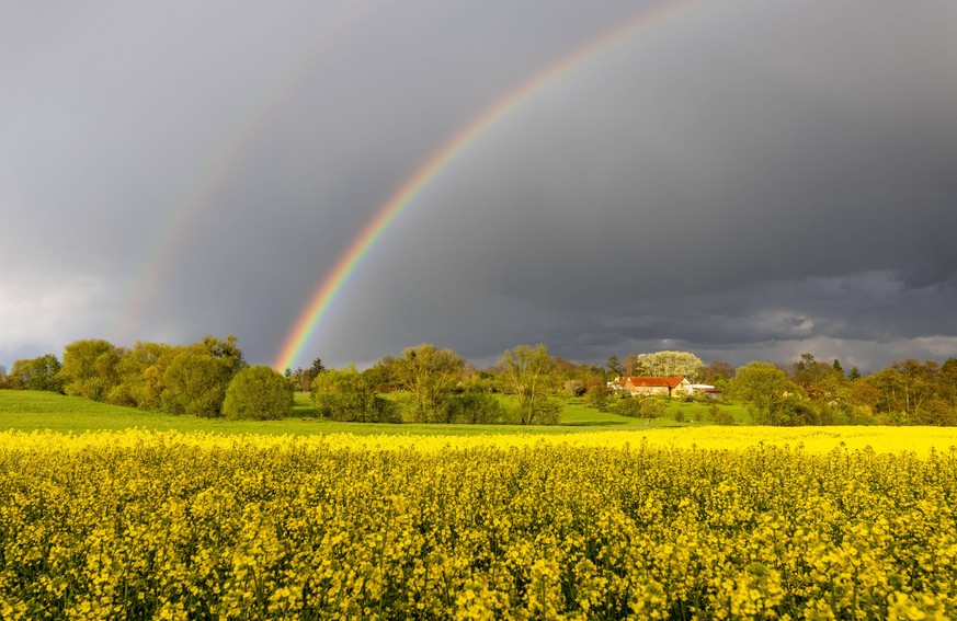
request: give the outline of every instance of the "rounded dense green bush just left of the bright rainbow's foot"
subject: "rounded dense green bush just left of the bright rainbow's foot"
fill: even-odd
[[[293,409],[293,388],[270,367],[247,367],[226,389],[223,415],[227,418],[280,421]]]

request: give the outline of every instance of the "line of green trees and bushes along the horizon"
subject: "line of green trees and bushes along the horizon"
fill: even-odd
[[[517,345],[490,368],[476,369],[452,349],[426,343],[364,370],[327,369],[317,358],[307,369],[278,373],[247,365],[233,336],[129,348],[84,340],[66,347],[62,363],[46,354],[14,361],[9,373],[0,367],[0,388],[236,418],[287,416],[294,391],[310,392],[318,416],[345,422],[548,425],[560,422],[570,396],[646,421],[664,415],[660,399],[615,393],[609,382],[619,376],[683,376],[715,386],[722,400],[744,404],[753,422],[764,425],[957,425],[957,358],[905,359],[862,376],[812,354],[737,369],[725,360],[705,365],[688,352],[634,354],[620,361],[613,355],[594,365],[551,356],[539,344]],[[733,422],[720,409],[713,407],[713,417]]]

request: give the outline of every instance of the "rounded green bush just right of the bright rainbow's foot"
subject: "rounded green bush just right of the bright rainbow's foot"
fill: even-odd
[[[332,369],[312,380],[312,403],[322,418],[353,423],[397,423],[396,406],[354,366]]]

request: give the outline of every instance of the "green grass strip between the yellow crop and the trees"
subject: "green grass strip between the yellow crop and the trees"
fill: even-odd
[[[508,399],[508,398],[505,398]],[[667,416],[651,421],[652,427],[700,426],[708,421],[707,403],[673,401]],[[749,423],[747,411],[738,405],[721,405],[739,423]],[[699,416],[696,416],[699,415]],[[680,421],[683,418],[683,421]],[[700,418],[700,423],[696,422]],[[293,415],[284,421],[228,421],[226,418],[196,418],[146,412],[65,396],[52,392],[0,390],[0,432],[34,432],[49,429],[79,434],[95,430],[144,428],[158,432],[205,432],[215,434],[411,434],[411,435],[472,435],[472,434],[568,434],[602,429],[643,428],[645,421],[599,412],[584,400],[566,400],[561,424],[556,426],[515,425],[438,425],[403,423],[394,425],[372,423],[337,423],[317,419],[309,395],[296,393]]]

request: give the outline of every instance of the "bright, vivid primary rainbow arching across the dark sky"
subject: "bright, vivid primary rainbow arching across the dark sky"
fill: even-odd
[[[321,280],[319,288],[310,298],[306,308],[299,314],[293,330],[283,343],[273,368],[284,370],[299,358],[303,348],[309,343],[316,329],[329,311],[330,306],[339,296],[342,287],[350,279],[356,267],[368,254],[369,250],[381,238],[389,225],[398,218],[414,198],[438,175],[442,170],[455,160],[469,145],[478,140],[502,118],[516,110],[523,102],[531,99],[547,84],[562,74],[583,65],[599,53],[627,38],[629,35],[649,25],[673,15],[694,0],[672,1],[638,13],[635,18],[603,33],[595,39],[574,49],[533,76],[532,79],[519,85],[504,97],[485,110],[471,122],[459,129],[422,162],[415,172],[389,197],[377,210],[358,235],[352,241],[345,252],[335,262],[332,269]]]

